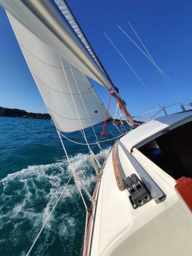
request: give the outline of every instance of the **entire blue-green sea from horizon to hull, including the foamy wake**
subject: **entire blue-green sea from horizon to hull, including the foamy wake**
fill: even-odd
[[[94,128],[98,139],[104,140],[100,135],[103,124]],[[119,135],[111,124],[106,125],[105,131],[109,138]],[[85,133],[89,143],[96,141],[92,127]],[[85,143],[80,131],[65,136]],[[96,174],[87,155],[88,147],[63,141],[73,168],[77,168],[92,194]],[[106,152],[111,146],[112,141],[107,142]],[[93,151],[101,160],[97,145]],[[0,117],[1,256],[26,255],[70,176],[58,133],[50,120]],[[90,201],[83,195],[89,207]],[[72,178],[30,255],[79,255],[84,227],[85,207]]]

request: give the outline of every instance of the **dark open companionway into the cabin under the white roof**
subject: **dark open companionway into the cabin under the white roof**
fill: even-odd
[[[191,131],[192,121],[148,142],[139,151],[175,180],[192,178]]]

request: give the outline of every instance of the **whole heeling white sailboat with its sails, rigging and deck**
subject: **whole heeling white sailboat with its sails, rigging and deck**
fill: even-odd
[[[80,255],[191,255],[191,110],[182,107],[180,113],[138,126],[65,0],[0,0],[0,4],[56,126],[85,204]],[[109,90],[131,127],[115,138],[103,164],[84,129],[92,126],[95,132],[94,125],[101,122],[105,128],[109,106],[105,108],[88,78]],[[63,132],[79,130],[97,175],[93,195],[72,168],[62,140],[67,139]],[[99,143],[96,138],[93,144],[100,147]]]

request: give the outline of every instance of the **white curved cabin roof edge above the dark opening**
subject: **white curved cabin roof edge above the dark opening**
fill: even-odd
[[[126,134],[120,141],[131,152],[133,147],[140,148],[149,141],[191,120],[191,111],[157,117]]]

